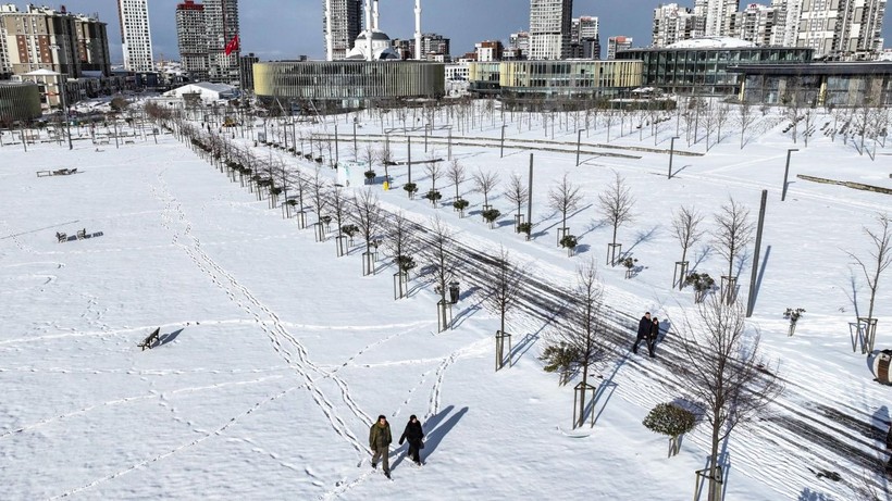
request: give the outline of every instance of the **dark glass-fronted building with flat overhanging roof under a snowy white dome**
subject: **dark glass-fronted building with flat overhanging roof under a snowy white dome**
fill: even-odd
[[[728,68],[740,64],[789,64],[812,61],[814,50],[801,47],[632,49],[617,60],[643,63],[641,84],[680,95],[735,95],[742,76]]]

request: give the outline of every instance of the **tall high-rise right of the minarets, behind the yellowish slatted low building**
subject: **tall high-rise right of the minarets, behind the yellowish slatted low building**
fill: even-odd
[[[573,0],[530,0],[530,59],[566,59]]]

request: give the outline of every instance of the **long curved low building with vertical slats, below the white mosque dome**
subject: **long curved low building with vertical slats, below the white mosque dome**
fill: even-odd
[[[357,109],[446,93],[443,63],[423,61],[300,61],[255,63],[261,99],[308,103],[319,110]]]

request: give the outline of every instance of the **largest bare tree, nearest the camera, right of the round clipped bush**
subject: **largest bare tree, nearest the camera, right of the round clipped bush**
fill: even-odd
[[[679,387],[703,409],[711,427],[709,501],[716,498],[719,446],[733,429],[754,422],[783,391],[777,364],[759,352],[759,336],[746,336],[745,310],[710,296],[697,305],[696,321],[679,326],[683,362],[676,368]]]

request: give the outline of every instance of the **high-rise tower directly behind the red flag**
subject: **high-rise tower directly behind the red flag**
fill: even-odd
[[[238,0],[205,0],[208,40],[208,79],[239,85]],[[230,47],[230,50],[226,50]],[[226,54],[228,52],[228,54]]]

